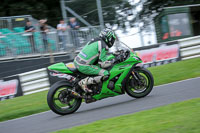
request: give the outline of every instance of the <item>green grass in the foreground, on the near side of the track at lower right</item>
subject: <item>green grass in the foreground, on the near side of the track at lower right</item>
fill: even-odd
[[[55,133],[200,133],[200,98]]]

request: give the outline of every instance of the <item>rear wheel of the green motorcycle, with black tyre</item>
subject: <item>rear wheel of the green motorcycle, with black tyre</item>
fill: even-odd
[[[67,83],[55,83],[47,95],[49,108],[59,115],[67,115],[78,110],[82,103],[81,98],[74,98],[69,95],[69,89],[72,89]]]

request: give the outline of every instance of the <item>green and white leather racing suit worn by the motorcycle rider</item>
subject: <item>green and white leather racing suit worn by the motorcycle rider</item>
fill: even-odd
[[[107,76],[109,72],[103,68],[111,66],[107,58],[108,47],[100,38],[93,39],[75,57],[77,69],[86,75]]]

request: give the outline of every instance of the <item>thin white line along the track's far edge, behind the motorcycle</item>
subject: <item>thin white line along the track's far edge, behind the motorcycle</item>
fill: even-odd
[[[166,86],[166,85],[171,85],[171,84],[177,84],[177,83],[181,83],[181,82],[185,82],[185,81],[189,81],[189,80],[193,80],[193,79],[199,79],[200,80],[200,77],[190,78],[190,79],[185,79],[185,80],[180,80],[180,81],[176,81],[176,82],[172,82],[172,83],[158,85],[158,86],[155,86],[155,87],[157,88],[157,87],[161,87],[161,86]],[[32,117],[32,116],[36,116],[36,115],[40,115],[40,114],[44,114],[44,113],[47,113],[47,112],[50,112],[50,110],[49,111],[45,111],[45,112],[41,112],[41,113],[37,113],[37,114],[32,114],[32,115],[20,117],[20,118],[16,118],[16,119],[12,119],[12,120],[3,121],[3,122],[0,122],[0,124],[1,123],[6,123],[6,122],[10,122],[10,121],[16,121],[16,120],[20,120],[20,119],[24,119],[24,118],[28,118],[28,117]]]

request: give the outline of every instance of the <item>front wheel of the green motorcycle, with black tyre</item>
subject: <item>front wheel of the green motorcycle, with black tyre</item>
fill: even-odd
[[[125,91],[134,98],[147,96],[154,86],[154,79],[150,71],[145,68],[135,68],[129,75]]]

